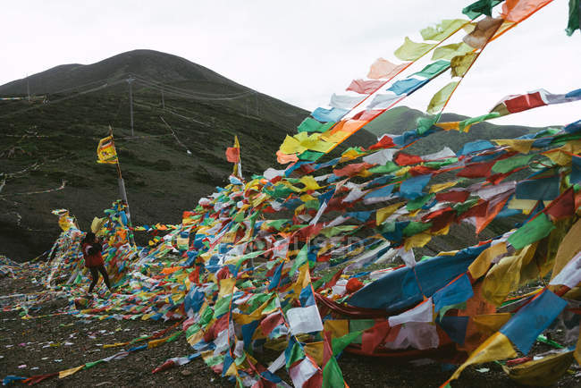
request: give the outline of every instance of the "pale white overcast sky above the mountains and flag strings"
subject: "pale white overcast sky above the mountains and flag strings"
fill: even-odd
[[[3,4],[0,84],[63,63],[95,63],[149,48],[312,110],[366,75],[406,36],[463,17],[473,0],[406,1],[82,1]],[[500,7],[497,7],[500,9]],[[581,88],[581,34],[567,37],[568,0],[555,0],[487,46],[446,112],[480,115],[509,94]],[[421,68],[421,66],[420,66]],[[404,100],[425,111],[437,89]],[[581,119],[581,102],[535,109],[496,123],[563,124]]]

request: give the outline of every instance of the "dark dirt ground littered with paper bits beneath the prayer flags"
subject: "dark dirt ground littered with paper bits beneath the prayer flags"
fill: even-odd
[[[30,283],[26,277],[0,278],[0,296],[39,290],[40,286]],[[29,315],[57,314],[67,305],[66,299],[53,300],[38,309],[31,309]],[[28,377],[78,367],[129,348],[104,349],[104,344],[128,342],[173,325],[172,322],[150,320],[87,320],[67,314],[21,319],[16,311],[1,311],[0,322],[0,378],[6,375]],[[233,386],[215,375],[201,358],[182,367],[152,374],[152,370],[161,366],[166,359],[188,356],[193,352],[185,338],[179,337],[174,342],[150,350],[131,352],[126,358],[101,363],[63,379],[53,377],[38,386]],[[422,366],[400,365],[387,362],[383,358],[364,358],[350,354],[342,355],[339,364],[345,381],[354,388],[438,387],[454,370],[453,366],[436,363]],[[581,386],[581,374],[578,372],[573,366],[570,373],[563,376],[555,386]],[[454,387],[482,388],[516,385],[496,364],[468,367],[459,380],[452,384]]]

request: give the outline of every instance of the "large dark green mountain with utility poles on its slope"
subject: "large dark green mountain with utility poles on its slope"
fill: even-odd
[[[0,186],[6,178],[0,189],[0,254],[16,259],[51,247],[59,234],[51,210],[70,209],[88,230],[93,217],[119,197],[114,165],[96,163],[98,139],[107,136],[109,125],[133,224],[177,224],[182,211],[227,183],[232,164],[224,151],[235,135],[242,171],[250,178],[279,165],[276,150],[308,114],[197,63],[151,50],[56,66],[0,86],[0,97],[26,96],[27,83],[30,102],[0,101]],[[374,141],[359,131],[333,152]],[[62,181],[63,190],[30,194],[54,190]],[[147,242],[146,233],[139,233]]]

